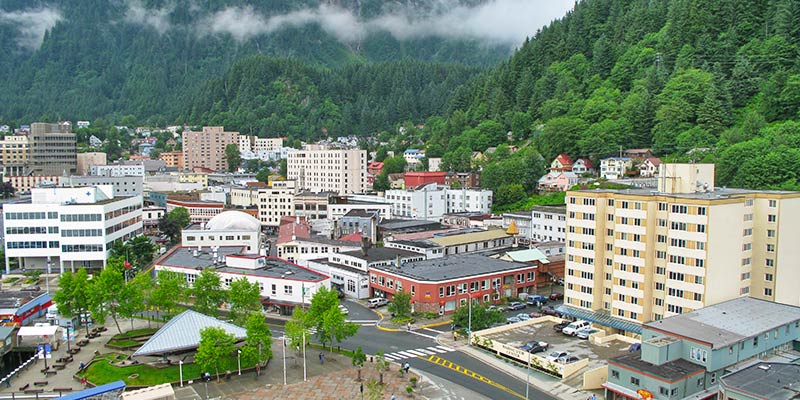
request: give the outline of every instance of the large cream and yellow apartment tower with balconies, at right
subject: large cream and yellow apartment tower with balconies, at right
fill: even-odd
[[[565,311],[638,333],[740,296],[800,305],[800,193],[714,188],[712,164],[658,179],[567,193]]]

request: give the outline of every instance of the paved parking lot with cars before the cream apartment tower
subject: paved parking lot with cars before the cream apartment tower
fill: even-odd
[[[514,325],[516,324],[512,324],[511,326],[513,327]],[[588,358],[589,366],[587,370],[604,366],[608,359],[628,352],[628,343],[614,340],[604,345],[595,345],[589,343],[588,340],[578,339],[557,332],[553,329],[554,325],[554,323],[546,321],[533,325],[514,327],[507,331],[486,336],[492,340],[515,347],[521,347],[530,340],[546,342],[550,344],[550,349],[546,353],[540,353],[540,356],[545,356],[549,352],[556,350],[566,351],[569,352],[570,355]]]

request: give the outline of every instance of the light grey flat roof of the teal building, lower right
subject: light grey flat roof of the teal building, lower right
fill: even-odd
[[[728,347],[800,321],[800,307],[740,297],[645,324],[645,329]]]

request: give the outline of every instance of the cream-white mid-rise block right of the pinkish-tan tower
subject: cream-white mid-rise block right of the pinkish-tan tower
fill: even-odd
[[[287,178],[295,179],[299,189],[338,194],[362,193],[367,186],[366,150],[328,150],[307,145],[290,151],[286,162]]]

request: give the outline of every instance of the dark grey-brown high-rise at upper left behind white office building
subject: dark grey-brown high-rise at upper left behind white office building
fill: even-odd
[[[75,134],[69,123],[31,124],[30,171],[33,175],[74,175],[78,170]]]

